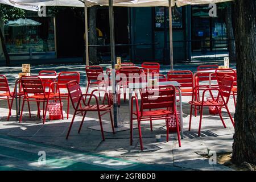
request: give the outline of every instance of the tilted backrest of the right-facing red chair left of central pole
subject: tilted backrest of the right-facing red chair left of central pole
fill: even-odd
[[[82,90],[80,88],[79,82],[73,80],[69,81],[67,84],[68,94],[73,106],[73,109],[76,109],[77,102],[79,101],[80,96],[82,95]]]

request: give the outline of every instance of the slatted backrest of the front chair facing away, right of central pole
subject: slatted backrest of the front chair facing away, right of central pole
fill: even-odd
[[[143,110],[158,110],[168,109],[174,111],[175,107],[175,87],[170,86],[159,86],[158,89],[144,88],[141,94],[141,112]]]

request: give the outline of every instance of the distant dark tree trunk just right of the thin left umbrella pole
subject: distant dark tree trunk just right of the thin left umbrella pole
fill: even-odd
[[[88,32],[89,45],[97,44],[96,23],[97,23],[97,6],[89,7],[89,32]],[[93,64],[98,64],[96,47],[89,47],[89,60]]]

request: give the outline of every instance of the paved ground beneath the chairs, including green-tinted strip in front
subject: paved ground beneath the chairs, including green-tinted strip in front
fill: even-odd
[[[105,65],[106,66],[106,65]],[[109,65],[108,65],[109,66]],[[195,71],[197,65],[179,64],[176,69],[190,69]],[[0,72],[6,75],[13,88],[16,75],[21,67],[1,67]],[[81,86],[85,92],[85,69],[80,64],[42,65],[32,67],[32,74],[39,70],[54,69],[60,71],[79,71]],[[168,67],[163,67],[163,73]],[[232,123],[225,110],[222,111],[227,128],[224,129],[217,115],[209,115],[207,107],[204,109],[201,137],[197,137],[199,116],[192,118],[192,130],[188,132],[189,110],[188,101],[191,97],[183,97],[184,139],[181,147],[177,144],[176,134],[170,135],[166,142],[165,121],[153,123],[150,131],[149,122],[142,123],[144,151],[140,150],[138,129],[134,129],[134,143],[130,146],[130,131],[115,133],[105,132],[105,141],[101,140],[101,132],[88,127],[99,126],[96,113],[86,114],[81,133],[78,134],[81,116],[71,130],[68,140],[65,139],[73,109],[69,119],[49,121],[45,125],[36,117],[36,105],[31,103],[32,118],[28,117],[25,105],[23,122],[16,122],[15,110],[7,122],[7,102],[0,100],[0,170],[231,170],[220,164],[209,164],[203,155],[208,152],[232,152],[233,133]],[[119,125],[129,127],[128,101],[121,99],[119,115],[122,121]],[[13,109],[15,106],[13,106]],[[229,109],[234,115],[233,98],[230,98]],[[64,101],[64,111],[67,103]],[[67,114],[64,114],[66,117]],[[104,129],[110,127],[110,118],[106,114]],[[134,123],[136,126],[136,122]],[[155,135],[162,135],[162,142],[156,142]],[[46,152],[46,165],[39,166],[38,152]]]

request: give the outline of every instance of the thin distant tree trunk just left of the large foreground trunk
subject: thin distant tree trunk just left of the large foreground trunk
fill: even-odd
[[[236,44],[234,42],[234,32],[232,26],[232,4],[226,3],[225,9],[225,24],[226,24],[226,33],[228,35],[228,51],[229,51],[229,60],[236,60]]]

